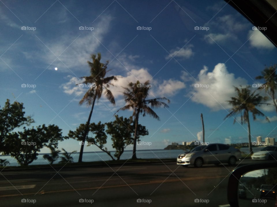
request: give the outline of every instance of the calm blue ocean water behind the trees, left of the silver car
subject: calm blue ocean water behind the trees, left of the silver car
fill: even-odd
[[[163,159],[163,158],[177,158],[177,156],[181,153],[183,153],[183,150],[138,150],[136,152],[137,158],[142,159]],[[111,152],[112,155],[115,154],[115,152]],[[124,151],[121,155],[121,160],[126,160],[132,158],[133,151],[128,150]],[[46,160],[42,157],[43,154],[38,155],[38,159],[34,160],[29,165],[43,165],[48,164]],[[60,156],[62,156],[60,154]],[[72,153],[71,156],[73,157],[74,162],[78,162],[79,159],[79,153]],[[7,159],[10,164],[8,166],[18,166],[17,160],[12,158],[11,156],[0,156],[1,159]],[[106,161],[111,160],[111,157],[108,156],[105,152],[86,152],[83,153],[83,162],[93,162],[93,161]],[[58,163],[60,160],[57,160],[54,162],[54,164]]]

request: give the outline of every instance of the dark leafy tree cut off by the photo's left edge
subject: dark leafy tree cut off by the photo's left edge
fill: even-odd
[[[0,109],[0,153],[7,154],[6,147],[10,146],[7,142],[7,136],[10,132],[23,125],[29,126],[34,122],[31,116],[25,116],[23,109],[23,103],[14,101],[11,104],[9,99],[7,99],[5,106]]]

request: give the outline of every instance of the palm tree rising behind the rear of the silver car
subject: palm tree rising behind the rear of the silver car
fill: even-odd
[[[253,120],[256,120],[256,115],[265,116],[261,111],[259,111],[256,107],[261,106],[262,101],[267,100],[267,97],[262,97],[259,94],[254,94],[254,92],[250,91],[250,86],[240,88],[235,87],[236,96],[231,97],[232,100],[228,101],[232,106],[230,113],[224,118],[228,118],[233,116],[233,114],[241,114],[241,123],[248,124],[248,143],[249,143],[249,151],[252,153],[252,145],[251,145],[251,134],[250,134],[250,121],[249,121],[249,112],[252,113]],[[266,120],[269,121],[267,116],[265,116]],[[234,123],[236,122],[236,118],[234,118]]]

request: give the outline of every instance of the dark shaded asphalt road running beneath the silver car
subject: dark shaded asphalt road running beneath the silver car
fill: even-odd
[[[165,162],[2,171],[0,206],[219,206],[228,204],[227,182],[235,167]]]

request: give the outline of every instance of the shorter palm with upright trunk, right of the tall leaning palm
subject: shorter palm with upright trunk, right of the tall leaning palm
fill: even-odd
[[[151,109],[158,108],[160,106],[168,107],[168,105],[160,100],[167,100],[170,103],[169,99],[163,98],[154,98],[154,99],[146,99],[149,93],[150,87],[149,81],[146,81],[144,84],[141,84],[139,81],[136,83],[129,83],[128,87],[123,87],[125,91],[123,92],[123,97],[126,101],[126,105],[119,110],[133,109],[132,118],[135,121],[135,131],[134,131],[134,147],[133,147],[133,156],[132,159],[136,159],[136,140],[137,131],[138,131],[138,123],[139,123],[139,114],[143,112],[143,116],[149,114],[150,116],[160,120],[159,116]],[[148,106],[151,104],[151,108]],[[119,111],[118,110],[118,111]]]

